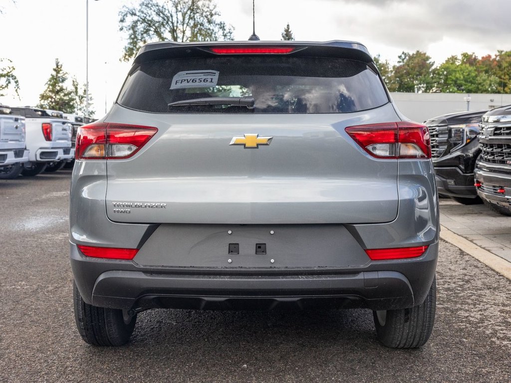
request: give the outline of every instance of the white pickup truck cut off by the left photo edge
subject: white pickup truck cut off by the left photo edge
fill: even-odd
[[[13,115],[9,107],[0,105],[0,179],[16,178],[28,159],[25,117]]]

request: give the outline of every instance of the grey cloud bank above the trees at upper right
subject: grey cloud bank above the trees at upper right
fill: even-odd
[[[405,50],[427,50],[443,39],[511,49],[509,0],[328,0],[343,32]],[[335,6],[334,6],[335,3]],[[360,39],[361,39],[360,38]],[[453,47],[453,50],[455,47]]]

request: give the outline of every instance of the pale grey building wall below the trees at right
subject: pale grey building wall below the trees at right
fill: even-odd
[[[464,93],[390,93],[401,113],[412,121],[424,122],[440,114],[467,110]],[[470,94],[470,110],[494,109],[511,104],[511,94]]]

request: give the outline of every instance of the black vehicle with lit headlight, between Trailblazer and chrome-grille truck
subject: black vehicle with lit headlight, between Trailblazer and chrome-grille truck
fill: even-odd
[[[480,153],[479,124],[485,110],[450,113],[426,121],[438,193],[464,205],[481,203],[474,186]]]

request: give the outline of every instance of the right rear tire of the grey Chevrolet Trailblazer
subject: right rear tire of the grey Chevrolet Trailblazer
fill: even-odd
[[[387,347],[415,348],[428,341],[436,309],[436,278],[426,300],[417,306],[400,310],[374,311],[378,340]]]

